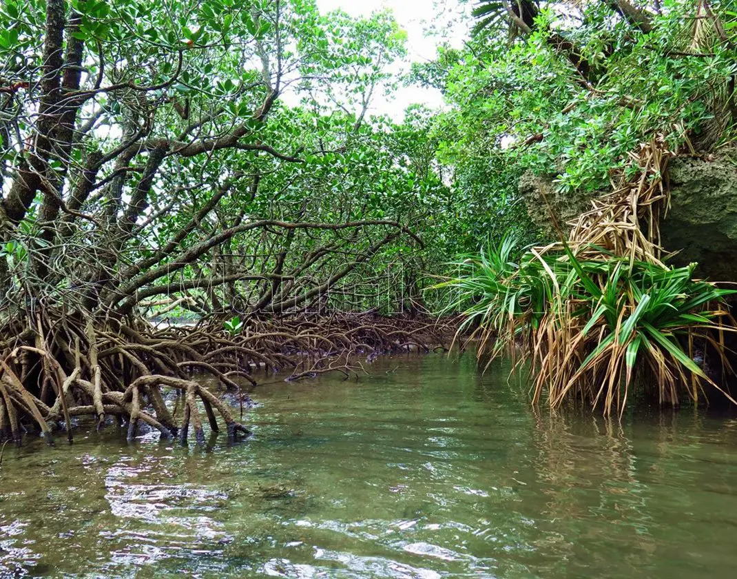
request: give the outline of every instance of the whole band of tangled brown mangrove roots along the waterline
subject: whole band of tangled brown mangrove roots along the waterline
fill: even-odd
[[[20,443],[29,429],[52,443],[52,429],[63,423],[71,442],[73,419],[108,417],[128,424],[128,440],[139,425],[178,437],[190,429],[204,444],[203,415],[212,432],[225,424],[228,440],[249,431],[241,423],[251,398],[244,384],[256,386],[257,372],[291,370],[287,380],[324,372],[346,376],[363,370],[352,356],[427,351],[442,344],[446,328],[428,322],[380,319],[368,314],[293,316],[246,320],[236,336],[221,320],[195,327],[154,327],[142,319],[83,319],[62,311],[37,311],[23,327],[11,325],[0,350],[0,440]],[[194,374],[209,375],[237,392],[240,418]],[[167,406],[165,391],[175,392]]]

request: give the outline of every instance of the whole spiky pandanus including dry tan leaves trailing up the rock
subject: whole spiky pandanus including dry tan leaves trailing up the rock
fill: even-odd
[[[459,333],[476,328],[480,356],[529,363],[534,401],[581,398],[609,415],[624,411],[638,384],[654,387],[660,403],[677,405],[683,392],[699,401],[706,386],[737,403],[694,359],[708,354],[731,372],[724,337],[737,322],[726,299],[737,290],[697,279],[694,263],[667,266],[655,243],[670,154],[661,142],[643,145],[633,155],[638,174],[594,201],[567,241],[551,208],[560,242],[515,263],[520,251],[506,238],[461,257],[456,276],[439,284],[455,291],[447,309],[467,316]]]

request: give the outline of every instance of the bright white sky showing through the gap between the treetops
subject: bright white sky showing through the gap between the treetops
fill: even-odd
[[[441,41],[449,40],[455,46],[461,44],[466,30],[456,25],[450,30],[444,30],[447,38],[427,36],[425,30],[430,24],[438,24],[436,18],[443,10],[457,9],[457,0],[317,0],[321,13],[340,9],[355,16],[368,16],[374,10],[390,8],[397,18],[399,26],[407,32],[407,47],[409,62],[423,62],[433,60],[436,48]],[[425,89],[416,86],[401,87],[393,100],[386,100],[377,95],[374,98],[369,114],[383,113],[399,121],[403,117],[405,108],[413,103],[423,103],[432,108],[443,105],[440,91]]]

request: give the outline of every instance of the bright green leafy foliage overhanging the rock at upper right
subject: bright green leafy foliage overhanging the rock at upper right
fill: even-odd
[[[654,135],[672,150],[696,152],[732,139],[737,16],[730,2],[482,0],[472,7],[474,37],[416,64],[413,77],[444,91],[451,108],[436,125],[439,159],[453,167],[454,193],[481,217],[478,229],[497,240],[508,229],[535,238],[517,196],[526,170],[554,176],[564,194],[601,190]],[[473,217],[468,222],[477,229]]]

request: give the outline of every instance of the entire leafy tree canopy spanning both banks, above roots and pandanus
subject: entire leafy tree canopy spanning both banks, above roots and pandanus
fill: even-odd
[[[453,254],[538,237],[526,170],[596,190],[653,134],[730,138],[726,3],[474,7],[464,48],[411,75],[449,107],[398,124],[371,114],[406,55],[390,13],[6,2],[5,311],[46,295],[119,313],[413,307]]]

